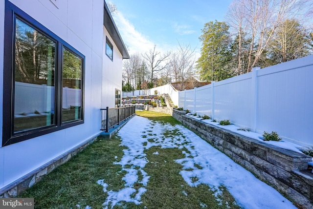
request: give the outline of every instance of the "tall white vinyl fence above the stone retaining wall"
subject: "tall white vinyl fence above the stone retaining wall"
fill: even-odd
[[[313,145],[313,55],[179,92],[179,107]]]

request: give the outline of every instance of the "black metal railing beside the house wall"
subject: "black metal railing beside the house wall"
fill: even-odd
[[[116,108],[105,108],[101,110],[101,129],[109,132],[109,129],[135,114],[135,105]]]

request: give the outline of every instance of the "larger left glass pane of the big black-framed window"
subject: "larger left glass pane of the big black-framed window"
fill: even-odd
[[[55,124],[56,43],[16,19],[14,133]]]

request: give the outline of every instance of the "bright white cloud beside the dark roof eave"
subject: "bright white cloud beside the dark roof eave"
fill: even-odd
[[[138,32],[134,25],[127,20],[122,13],[117,12],[113,19],[124,43],[128,46],[128,52],[130,54],[145,52],[154,47],[154,43]]]

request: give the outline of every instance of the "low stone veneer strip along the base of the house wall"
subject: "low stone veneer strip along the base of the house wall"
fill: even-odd
[[[50,173],[56,167],[66,163],[71,157],[76,155],[85,149],[88,145],[97,140],[97,137],[93,137],[86,142],[68,150],[63,155],[47,162],[45,165],[33,170],[22,178],[9,184],[8,186],[0,189],[0,198],[15,197],[25,191],[27,188],[32,187],[34,184],[39,182],[46,174]]]

